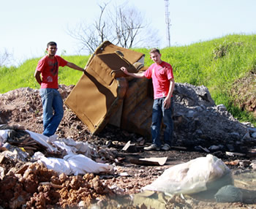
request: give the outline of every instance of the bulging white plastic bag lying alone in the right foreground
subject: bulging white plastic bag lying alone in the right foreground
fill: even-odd
[[[208,154],[206,157],[193,159],[184,164],[170,167],[153,183],[143,190],[162,191],[170,194],[194,194],[206,191],[207,183],[222,178],[230,173],[221,159]]]

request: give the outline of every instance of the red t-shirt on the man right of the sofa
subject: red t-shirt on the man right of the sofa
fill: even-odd
[[[151,64],[146,72],[144,72],[146,78],[152,78],[154,87],[154,99],[167,96],[170,88],[170,79],[173,77],[173,68],[170,64],[162,61],[161,64]]]

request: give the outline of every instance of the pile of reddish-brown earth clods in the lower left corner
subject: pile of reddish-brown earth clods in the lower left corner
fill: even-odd
[[[94,199],[107,199],[113,192],[99,176],[58,175],[42,164],[25,163],[0,183],[0,205],[4,208],[88,207]]]

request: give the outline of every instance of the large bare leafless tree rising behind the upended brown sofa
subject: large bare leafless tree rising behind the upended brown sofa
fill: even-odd
[[[150,27],[138,9],[123,4],[107,11],[107,6],[99,5],[100,14],[93,24],[83,23],[75,30],[68,31],[71,37],[80,42],[80,52],[94,53],[105,40],[126,48],[148,47],[148,42],[157,45],[157,33],[148,29]]]

